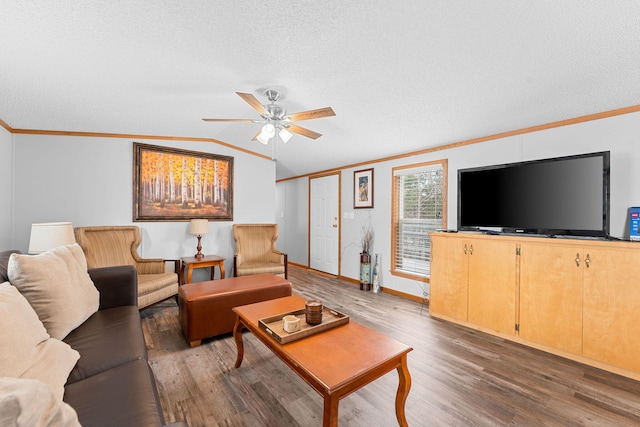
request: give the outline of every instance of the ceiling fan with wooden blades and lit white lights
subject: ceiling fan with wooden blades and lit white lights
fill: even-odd
[[[265,96],[269,100],[269,104],[262,105],[262,103],[250,93],[236,92],[240,98],[251,105],[254,110],[260,114],[261,120],[253,119],[202,119],[205,122],[249,122],[249,123],[264,123],[262,129],[254,135],[252,141],[259,141],[260,143],[267,145],[269,140],[276,134],[285,144],[293,133],[306,136],[311,139],[318,139],[322,134],[314,132],[312,130],[303,128],[301,126],[293,124],[293,122],[299,122],[302,120],[320,119],[322,117],[335,116],[336,113],[331,107],[318,108],[317,110],[302,111],[299,113],[287,114],[287,110],[281,105],[276,104],[276,101],[280,98],[280,92],[274,89],[267,89]]]

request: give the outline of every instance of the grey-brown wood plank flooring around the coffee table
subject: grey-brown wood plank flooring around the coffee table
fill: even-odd
[[[414,348],[406,403],[410,426],[640,425],[640,382],[431,318],[428,307],[360,291],[350,282],[290,266],[294,294],[317,298]],[[178,308],[141,312],[167,422],[197,426],[321,426],[320,396],[253,335],[234,369],[231,335],[190,348]],[[353,357],[367,357],[353,349]],[[640,357],[640,355],[639,355]],[[341,427],[395,426],[398,375],[340,401]]]

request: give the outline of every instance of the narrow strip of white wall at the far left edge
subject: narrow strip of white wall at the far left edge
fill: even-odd
[[[0,126],[0,251],[11,249],[13,136]]]

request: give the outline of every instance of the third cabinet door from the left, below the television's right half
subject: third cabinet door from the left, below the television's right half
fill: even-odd
[[[581,247],[522,243],[520,253],[520,337],[582,354]]]

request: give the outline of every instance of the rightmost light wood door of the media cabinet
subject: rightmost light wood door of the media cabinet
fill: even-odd
[[[583,355],[640,372],[640,252],[587,249]]]

